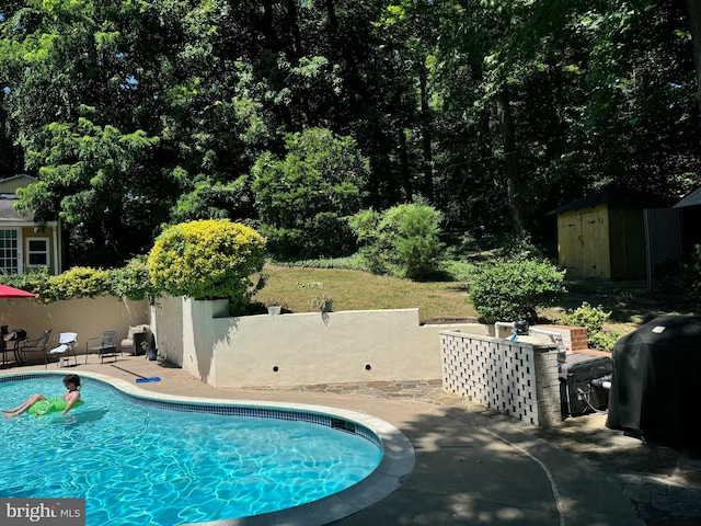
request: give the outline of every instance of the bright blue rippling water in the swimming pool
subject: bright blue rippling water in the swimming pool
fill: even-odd
[[[0,418],[0,496],[85,498],[89,526],[198,523],[321,499],[382,457],[372,441],[317,423],[173,411],[83,386],[85,404],[65,416]],[[34,392],[61,395],[61,377],[0,382],[0,405]]]

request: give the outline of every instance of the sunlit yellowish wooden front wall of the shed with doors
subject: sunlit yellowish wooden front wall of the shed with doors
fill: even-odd
[[[611,277],[609,225],[606,204],[558,216],[558,256],[568,277]]]

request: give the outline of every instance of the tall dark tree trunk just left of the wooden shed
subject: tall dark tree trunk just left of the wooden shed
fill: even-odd
[[[512,103],[508,90],[504,88],[496,96],[496,112],[504,141],[504,174],[506,175],[506,199],[512,210],[512,229],[516,236],[525,231],[525,209],[522,192],[520,192],[520,174],[518,156],[516,155],[516,130],[512,117]]]

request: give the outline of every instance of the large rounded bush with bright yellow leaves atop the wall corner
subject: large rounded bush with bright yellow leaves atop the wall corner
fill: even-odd
[[[183,222],[156,240],[148,266],[153,285],[173,296],[228,298],[245,310],[255,291],[250,277],[261,272],[265,238],[227,219]]]

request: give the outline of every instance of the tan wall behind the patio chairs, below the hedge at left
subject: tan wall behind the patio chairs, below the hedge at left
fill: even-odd
[[[28,338],[36,338],[51,329],[49,348],[60,332],[77,332],[77,354],[85,351],[85,341],[102,331],[117,331],[117,340],[126,338],[129,325],[148,323],[148,301],[118,300],[112,296],[80,298],[70,301],[41,304],[30,298],[0,299],[0,325],[9,330],[24,329]],[[37,356],[37,362],[44,362]]]

